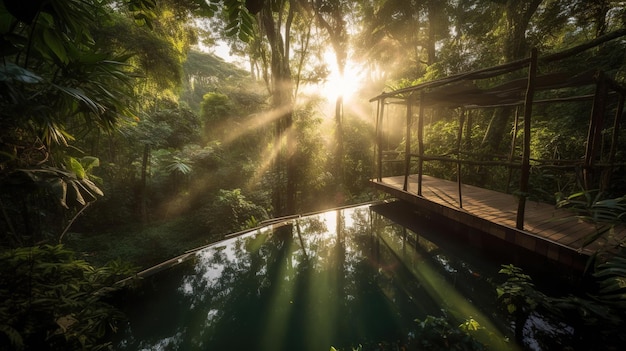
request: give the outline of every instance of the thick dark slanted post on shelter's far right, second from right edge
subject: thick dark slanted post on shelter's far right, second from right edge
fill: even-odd
[[[589,132],[587,133],[585,163],[583,166],[585,190],[590,190],[594,186],[593,164],[602,142],[602,122],[606,108],[606,81],[604,79],[604,73],[598,72],[597,79],[596,93],[593,98],[593,108],[591,109],[591,120],[589,121]]]

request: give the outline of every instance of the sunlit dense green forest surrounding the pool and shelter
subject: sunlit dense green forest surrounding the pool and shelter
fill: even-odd
[[[121,278],[382,198],[368,182],[383,91],[588,43],[561,68],[626,84],[613,0],[3,0],[0,33],[0,346],[21,350],[107,349],[123,316],[103,297]],[[538,114],[535,156],[578,157],[588,111]],[[475,118],[473,151],[506,152],[511,116]],[[445,152],[457,128],[433,117],[425,147]],[[616,224],[624,166],[600,194],[532,186],[587,210],[612,199]]]

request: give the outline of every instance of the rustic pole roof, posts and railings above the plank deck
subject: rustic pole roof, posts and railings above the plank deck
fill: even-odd
[[[380,182],[384,176],[398,176],[399,174],[383,174],[384,164],[388,162],[403,162],[404,191],[409,188],[409,178],[417,173],[417,193],[422,196],[422,177],[424,163],[431,161],[451,162],[456,164],[456,180],[458,183],[458,205],[463,207],[461,194],[463,185],[463,166],[477,166],[484,169],[493,166],[507,167],[509,183],[513,181],[513,171],[519,173],[516,189],[512,191],[518,195],[517,223],[518,229],[524,229],[526,199],[529,196],[530,176],[533,168],[546,167],[555,170],[574,170],[581,173],[585,189],[607,189],[610,185],[612,170],[621,165],[616,159],[619,143],[619,128],[623,115],[623,105],[626,89],[607,77],[603,72],[589,70],[585,72],[550,72],[540,73],[542,64],[562,59],[558,55],[539,57],[536,50],[532,50],[530,57],[507,64],[480,69],[472,72],[452,75],[442,79],[422,83],[419,85],[382,93],[371,102],[377,103],[376,113],[376,181]],[[525,76],[524,76],[525,75]],[[589,89],[593,89],[593,94]],[[586,89],[586,90],[585,90]],[[564,94],[568,92],[568,94]],[[582,93],[580,93],[582,91]],[[603,131],[605,120],[608,118],[607,104],[610,99],[618,103],[610,133],[610,147],[607,152],[602,151]],[[569,102],[591,103],[588,132],[585,144],[585,154],[574,160],[537,160],[531,158],[533,144],[532,118],[533,107]],[[612,101],[612,100],[611,100]],[[388,106],[404,106],[406,108],[406,123],[404,125],[404,150],[385,149],[383,139],[388,133],[383,120],[396,118],[389,112]],[[471,111],[493,108],[515,108],[515,122],[511,137],[511,150],[506,156],[491,157],[490,159],[471,159],[472,141],[471,128],[476,120],[471,118]],[[425,152],[426,112],[434,110],[458,110],[459,127],[455,145],[445,155],[428,155]],[[414,113],[417,111],[417,123],[414,123]],[[521,112],[520,112],[521,111]],[[521,121],[520,121],[521,119]],[[609,121],[610,122],[610,121]],[[463,140],[463,128],[465,140]],[[523,141],[516,145],[516,139],[521,132]],[[516,156],[516,148],[521,147],[521,155]],[[385,155],[399,155],[396,159],[386,159]],[[402,155],[403,154],[403,155]],[[622,160],[623,163],[623,160]],[[467,168],[467,167],[466,167]]]

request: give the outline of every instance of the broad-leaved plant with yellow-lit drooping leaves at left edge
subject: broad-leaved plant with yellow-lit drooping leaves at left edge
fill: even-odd
[[[104,193],[90,179],[98,158],[67,157],[63,168],[37,166],[0,172],[0,243],[28,246],[61,242],[76,217]],[[71,220],[65,214],[73,214]]]

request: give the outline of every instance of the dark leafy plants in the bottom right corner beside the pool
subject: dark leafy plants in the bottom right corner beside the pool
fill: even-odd
[[[619,345],[626,342],[622,333],[626,294],[619,274],[626,260],[616,256],[609,262],[596,268],[598,291],[564,297],[542,293],[521,268],[503,265],[500,273],[508,279],[496,291],[498,300],[514,317],[516,341],[525,345],[525,339],[531,337],[543,345],[542,349],[620,349]]]

